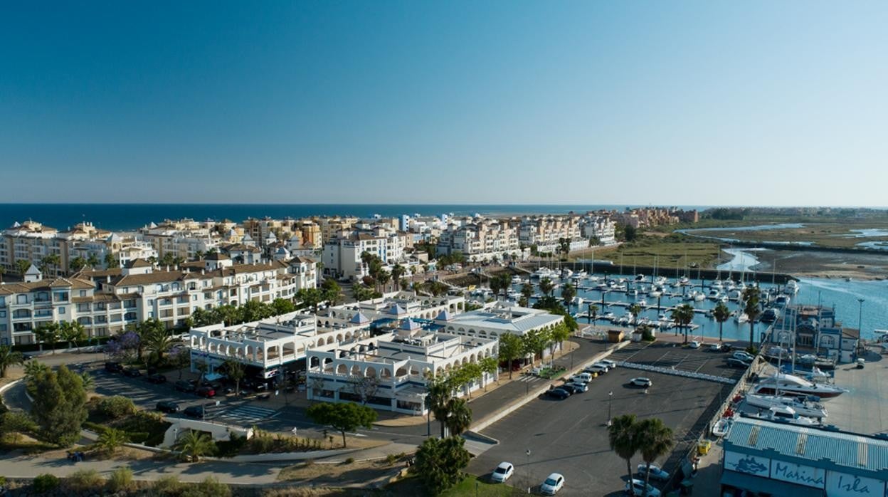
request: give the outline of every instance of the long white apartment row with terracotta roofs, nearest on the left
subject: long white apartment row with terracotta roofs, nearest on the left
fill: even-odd
[[[183,271],[136,260],[122,269],[0,285],[0,343],[34,343],[31,332],[44,321],[77,321],[90,337],[154,317],[171,328],[196,309],[292,299],[299,289],[316,285],[313,261],[234,264],[223,254],[211,254],[203,264]]]

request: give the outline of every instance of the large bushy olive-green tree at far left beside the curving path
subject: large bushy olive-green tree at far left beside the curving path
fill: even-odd
[[[28,393],[34,397],[31,417],[46,440],[67,447],[80,439],[87,409],[86,391],[78,374],[66,365],[60,365],[58,371],[44,371],[28,380]]]

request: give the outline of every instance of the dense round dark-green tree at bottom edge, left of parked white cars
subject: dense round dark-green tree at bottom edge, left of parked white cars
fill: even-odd
[[[463,478],[462,470],[472,457],[463,437],[426,438],[416,451],[412,471],[421,475],[430,493],[437,495]]]

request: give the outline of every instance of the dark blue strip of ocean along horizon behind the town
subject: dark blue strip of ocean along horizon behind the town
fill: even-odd
[[[301,218],[320,215],[374,214],[392,217],[401,214],[440,215],[511,215],[527,213],[586,212],[599,209],[624,209],[639,205],[568,205],[568,204],[0,204],[0,228],[15,221],[36,220],[47,226],[67,229],[83,220],[99,228],[128,230],[165,219],[235,220],[249,217]],[[703,206],[680,206],[705,209]]]

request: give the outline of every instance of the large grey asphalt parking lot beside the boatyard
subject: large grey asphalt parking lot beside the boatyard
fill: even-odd
[[[682,349],[669,343],[633,343],[609,357],[639,364],[659,365],[698,373],[739,378],[743,371],[725,365],[729,354],[705,349]],[[631,378],[646,376],[653,386],[629,386]],[[608,406],[613,416],[632,413],[639,418],[657,417],[675,431],[684,453],[709,421],[708,410],[719,405],[733,386],[662,373],[643,373],[618,367],[592,380],[586,393],[566,400],[537,398],[483,430],[499,440],[474,459],[469,471],[486,475],[502,461],[515,465],[511,485],[538,488],[551,472],[565,476],[566,495],[616,495],[622,492],[626,462],[607,443]],[[608,398],[608,393],[613,397]],[[705,414],[705,415],[704,415]],[[527,450],[530,457],[527,457]],[[661,465],[664,461],[658,461]],[[678,455],[666,464],[677,465]],[[632,461],[633,468],[641,462]],[[561,494],[559,493],[559,494]]]

